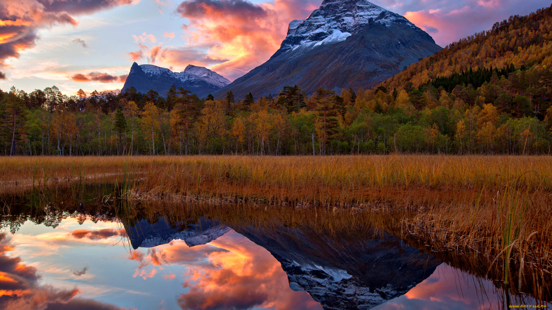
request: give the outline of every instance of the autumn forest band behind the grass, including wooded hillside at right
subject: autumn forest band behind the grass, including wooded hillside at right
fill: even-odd
[[[552,9],[454,42],[375,89],[198,98],[0,92],[2,154],[550,154]]]

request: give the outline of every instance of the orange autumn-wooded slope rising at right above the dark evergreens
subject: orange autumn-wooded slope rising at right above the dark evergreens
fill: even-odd
[[[537,9],[526,16],[511,16],[507,20],[496,22],[487,31],[483,30],[452,42],[431,57],[412,63],[406,70],[382,84],[392,89],[402,88],[405,83],[412,82],[412,86],[418,88],[432,81],[435,88],[443,86],[447,92],[451,92],[456,85],[471,84],[474,89],[477,89],[484,82],[496,80],[492,78],[492,71],[497,72],[497,78],[500,80],[502,75],[508,78],[512,72],[519,73],[526,70],[531,74],[537,74],[535,80],[539,81],[544,73],[539,71],[552,66],[550,31],[552,31],[552,7]],[[474,72],[469,73],[470,68]],[[497,71],[497,68],[500,71]],[[486,72],[482,72],[483,70]],[[508,90],[507,87],[504,90],[510,97],[515,97],[517,93],[529,93],[525,88],[531,87],[532,83],[521,84],[518,88],[523,84],[527,85],[522,87],[523,89],[514,91],[513,94],[508,93],[511,89]],[[548,84],[544,84],[544,87],[548,91]],[[487,100],[486,103],[494,103],[501,93],[496,90],[494,92],[496,96],[477,95],[483,95]],[[458,91],[455,94],[458,94]],[[550,95],[546,94],[542,97],[550,98]],[[466,104],[473,105],[475,98],[462,99]],[[545,113],[545,109],[542,112]]]

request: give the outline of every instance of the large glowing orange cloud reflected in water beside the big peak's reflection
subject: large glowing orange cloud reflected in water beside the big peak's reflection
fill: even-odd
[[[157,272],[144,270],[150,263],[158,269],[163,264],[189,267],[183,282],[189,291],[178,297],[183,309],[322,309],[306,292],[291,290],[282,266],[266,249],[233,231],[205,245],[190,248],[183,240],[173,240],[148,249],[146,255],[132,253],[129,259],[139,262],[136,276],[144,279]]]

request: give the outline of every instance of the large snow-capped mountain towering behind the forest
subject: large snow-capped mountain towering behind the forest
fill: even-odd
[[[366,0],[324,0],[306,19],[289,23],[267,62],[216,95],[277,95],[295,84],[307,94],[318,87],[370,88],[440,49],[406,18]]]

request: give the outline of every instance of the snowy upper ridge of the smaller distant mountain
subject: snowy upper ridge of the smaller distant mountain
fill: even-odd
[[[193,82],[194,80],[202,80],[218,87],[225,87],[226,85],[230,84],[230,81],[227,78],[205,67],[188,65],[182,72],[172,72],[167,68],[162,68],[155,65],[140,65],[140,68],[142,69],[142,71],[144,71],[144,73],[146,73],[148,77],[158,78],[160,76],[167,76],[179,79],[182,82]]]

